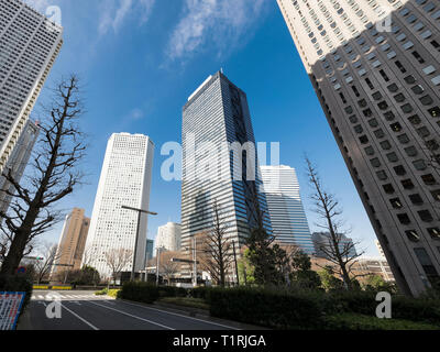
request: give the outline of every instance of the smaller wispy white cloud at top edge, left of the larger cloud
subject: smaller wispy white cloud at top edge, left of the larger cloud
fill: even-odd
[[[123,25],[128,16],[135,12],[141,24],[150,19],[155,0],[103,0],[101,1],[99,34],[107,34],[110,30],[114,33]]]

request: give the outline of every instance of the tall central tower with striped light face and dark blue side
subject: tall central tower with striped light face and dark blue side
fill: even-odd
[[[242,153],[241,146],[250,146]],[[231,151],[235,145],[240,151]],[[188,98],[183,111],[182,242],[212,228],[217,201],[226,238],[246,243],[250,228],[264,212],[272,233],[260,178],[251,114],[244,91],[217,73]],[[243,156],[243,157],[241,157]]]

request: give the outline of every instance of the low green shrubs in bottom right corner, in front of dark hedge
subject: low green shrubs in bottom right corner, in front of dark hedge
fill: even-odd
[[[439,327],[399,319],[343,314],[324,319],[326,330],[438,330]]]

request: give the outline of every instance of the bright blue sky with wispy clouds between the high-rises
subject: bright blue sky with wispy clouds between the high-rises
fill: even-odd
[[[46,87],[77,73],[85,86],[81,128],[90,147],[87,184],[59,207],[91,216],[107,140],[143,133],[156,145],[148,238],[180,220],[180,184],[161,178],[161,146],[180,142],[182,107],[211,74],[224,74],[249,99],[257,141],[280,142],[282,164],[297,169],[309,226],[316,217],[304,154],[318,165],[360,249],[377,255],[375,234],[274,0],[28,0],[58,6],[64,46]],[[46,91],[43,91],[43,96]],[[44,97],[42,97],[44,99]],[[62,223],[44,235],[57,242]]]

